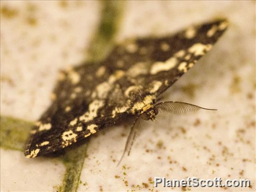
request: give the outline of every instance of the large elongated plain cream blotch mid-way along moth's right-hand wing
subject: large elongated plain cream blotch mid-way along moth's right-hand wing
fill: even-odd
[[[155,62],[151,67],[150,73],[154,75],[160,71],[168,71],[173,69],[177,63],[178,60],[175,57],[171,57],[165,62]]]

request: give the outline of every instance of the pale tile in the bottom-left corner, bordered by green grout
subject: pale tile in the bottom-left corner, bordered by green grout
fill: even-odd
[[[65,167],[59,160],[24,158],[19,151],[1,149],[1,192],[54,191],[60,185]]]

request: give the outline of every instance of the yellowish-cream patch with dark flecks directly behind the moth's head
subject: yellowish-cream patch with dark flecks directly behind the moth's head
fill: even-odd
[[[131,112],[132,114],[135,114],[138,111],[141,111],[141,113],[143,113],[143,111],[145,111],[146,109],[151,108],[153,105],[153,101],[155,100],[155,96],[151,96],[151,95],[147,95],[144,97],[143,101],[138,101],[136,102],[132,109]]]

